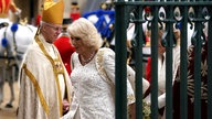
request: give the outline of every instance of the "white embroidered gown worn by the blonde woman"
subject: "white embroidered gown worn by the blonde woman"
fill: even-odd
[[[115,61],[113,56],[104,56],[104,58],[105,71],[114,83]],[[95,64],[96,55],[84,66],[80,63],[77,53],[72,55],[72,60],[74,69],[71,74],[71,80],[74,86],[78,108],[74,118],[67,116],[65,119],[115,119],[115,100],[110,90],[112,87],[98,74]],[[129,82],[127,82],[127,86],[130,86]],[[134,95],[132,88],[127,88],[127,95]],[[131,100],[130,102],[134,101]],[[71,110],[74,108],[72,105]]]

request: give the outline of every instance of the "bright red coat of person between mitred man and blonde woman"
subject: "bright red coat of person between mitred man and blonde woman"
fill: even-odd
[[[70,37],[68,36],[61,36],[59,37],[55,42],[54,45],[57,47],[63,64],[65,65],[65,68],[68,73],[68,75],[71,75],[72,69],[71,69],[71,55],[72,53],[75,52],[74,46],[71,44]]]

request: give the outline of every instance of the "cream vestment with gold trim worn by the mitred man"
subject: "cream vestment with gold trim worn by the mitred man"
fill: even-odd
[[[59,51],[42,35],[29,47],[20,73],[18,119],[60,119],[63,99],[71,102],[72,84]]]

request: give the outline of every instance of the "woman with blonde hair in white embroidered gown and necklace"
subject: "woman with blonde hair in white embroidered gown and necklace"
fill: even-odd
[[[68,26],[75,53],[72,55],[71,80],[74,99],[66,119],[115,119],[115,53],[100,48],[102,39],[88,20],[81,18]],[[102,52],[103,67],[97,67],[97,54]],[[100,69],[99,69],[100,68]],[[106,74],[108,79],[104,79]],[[127,80],[128,106],[135,104],[134,90]]]

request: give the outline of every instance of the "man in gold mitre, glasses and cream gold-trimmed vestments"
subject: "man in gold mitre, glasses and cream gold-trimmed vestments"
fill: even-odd
[[[63,0],[44,2],[40,29],[21,66],[18,119],[60,119],[68,111],[72,85],[53,45],[63,11]]]

